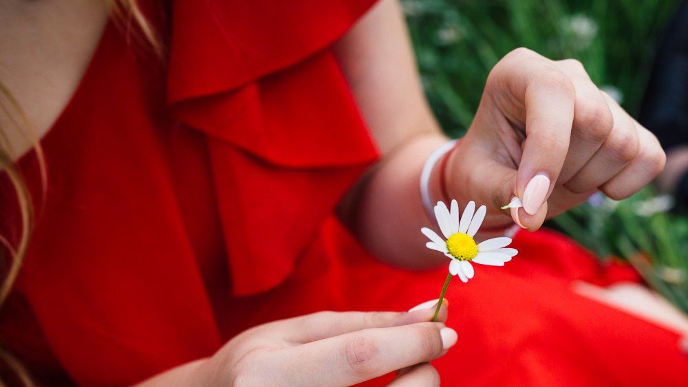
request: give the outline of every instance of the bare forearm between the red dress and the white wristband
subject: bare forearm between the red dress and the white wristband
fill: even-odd
[[[412,137],[387,154],[350,192],[341,206],[341,217],[363,245],[382,261],[422,269],[446,263],[427,250],[420,228],[436,228],[420,199],[420,173],[433,151],[447,142],[438,131]],[[439,168],[429,181],[433,202],[442,198]]]

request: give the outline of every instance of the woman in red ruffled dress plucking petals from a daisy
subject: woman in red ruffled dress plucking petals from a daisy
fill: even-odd
[[[526,276],[485,269],[450,289],[460,324],[471,325],[458,351],[447,353],[456,332],[429,322],[433,302],[409,313],[308,314],[405,310],[436,298],[444,278],[446,258],[419,232],[433,219],[418,186],[448,139],[422,96],[396,1],[142,1],[152,28],[139,22],[129,34],[98,1],[2,4],[0,75],[42,139],[48,175],[41,198],[36,158],[20,157],[31,142],[5,133],[41,211],[3,307],[3,339],[36,379],[348,385],[398,371],[397,385],[433,385],[437,357],[449,385],[546,384],[561,372],[571,384],[669,383],[652,367],[623,374],[614,362],[685,368],[662,338],[600,371],[594,338],[622,351],[637,344],[596,324],[590,337],[568,334],[585,325],[572,324],[557,340],[518,344],[550,333],[522,322],[561,300],[567,310],[548,316],[572,321],[587,309],[627,322],[633,335],[662,334],[528,269],[542,263],[538,254],[588,259],[548,234],[516,241],[530,257]],[[164,37],[150,38],[152,48],[136,39],[153,30]],[[165,66],[151,55],[160,41],[169,44]],[[4,131],[12,125],[3,120]],[[656,139],[579,63],[517,49],[495,66],[469,133],[422,189],[432,201],[485,203],[493,234],[512,224],[499,207],[517,196],[515,221],[534,231],[596,190],[632,194],[663,162]],[[21,211],[6,203],[21,192],[6,186],[3,235],[16,245]],[[522,296],[537,289],[547,292]],[[532,316],[505,313],[518,305]],[[557,360],[557,347],[591,362]],[[524,356],[494,362],[504,349]]]

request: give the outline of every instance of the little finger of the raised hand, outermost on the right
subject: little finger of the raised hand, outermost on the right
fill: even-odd
[[[657,137],[637,122],[634,123],[642,145],[638,155],[621,172],[600,186],[602,192],[615,200],[629,197],[646,186],[659,175],[667,161]]]

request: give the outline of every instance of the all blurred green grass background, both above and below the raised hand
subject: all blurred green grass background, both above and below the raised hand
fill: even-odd
[[[638,117],[656,49],[678,0],[402,0],[422,82],[440,124],[460,137],[490,69],[516,47],[576,58]],[[687,85],[688,87],[688,85]],[[688,107],[687,107],[688,109]],[[621,258],[688,314],[688,215],[652,186],[624,201],[595,195],[548,223],[602,261]]]

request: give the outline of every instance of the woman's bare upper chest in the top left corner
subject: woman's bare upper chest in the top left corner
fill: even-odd
[[[72,98],[107,17],[102,0],[0,0],[0,80],[28,115],[36,138]],[[15,159],[33,146],[4,114],[0,128]]]

